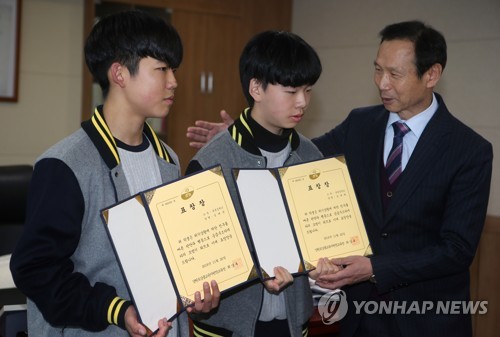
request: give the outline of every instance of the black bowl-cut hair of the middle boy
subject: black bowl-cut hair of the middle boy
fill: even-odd
[[[300,36],[284,31],[265,31],[254,36],[240,57],[240,81],[250,107],[253,98],[248,92],[250,80],[286,87],[313,85],[322,67],[316,51]]]

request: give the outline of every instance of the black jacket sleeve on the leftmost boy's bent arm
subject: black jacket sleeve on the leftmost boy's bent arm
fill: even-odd
[[[116,291],[104,283],[92,285],[74,272],[71,256],[79,244],[84,207],[78,181],[66,164],[38,162],[11,271],[16,286],[50,324],[99,331],[109,325],[106,316]]]

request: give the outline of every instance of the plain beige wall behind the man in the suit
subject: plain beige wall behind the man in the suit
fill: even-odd
[[[352,108],[380,103],[372,80],[378,33],[387,24],[411,19],[446,37],[448,64],[436,91],[452,114],[493,144],[488,213],[500,215],[498,0],[294,0],[292,30],[318,51],[324,68],[300,131],[320,135]]]

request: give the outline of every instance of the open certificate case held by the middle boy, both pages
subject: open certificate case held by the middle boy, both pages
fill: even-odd
[[[233,169],[263,273],[313,269],[322,257],[371,255],[343,156],[276,169]]]

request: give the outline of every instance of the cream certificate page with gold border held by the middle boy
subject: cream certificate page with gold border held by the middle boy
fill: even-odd
[[[306,263],[371,255],[344,156],[279,168],[283,193]]]

